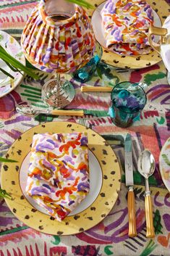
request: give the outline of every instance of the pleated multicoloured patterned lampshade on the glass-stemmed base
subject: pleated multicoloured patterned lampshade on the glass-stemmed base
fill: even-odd
[[[21,38],[27,60],[48,73],[54,70],[72,73],[82,67],[93,55],[94,44],[90,20],[84,9],[75,5],[72,17],[54,21],[46,13],[45,0],[33,9]]]

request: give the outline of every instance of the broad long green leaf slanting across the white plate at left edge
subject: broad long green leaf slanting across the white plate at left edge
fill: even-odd
[[[17,59],[12,57],[10,54],[7,53],[7,51],[4,50],[2,46],[0,46],[0,58],[4,60],[4,62],[8,62],[9,65],[12,65],[17,70],[22,70],[27,75],[30,75],[34,79],[39,79],[39,76],[33,73],[30,69],[25,67],[25,65],[22,65]]]

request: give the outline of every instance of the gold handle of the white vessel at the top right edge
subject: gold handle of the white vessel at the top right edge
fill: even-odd
[[[149,28],[148,37],[149,37],[149,43],[150,46],[153,47],[159,54],[161,53],[161,44],[166,41],[166,34],[168,33],[168,30],[166,28],[158,28],[151,26]],[[160,44],[156,44],[153,42],[153,35],[161,36]]]

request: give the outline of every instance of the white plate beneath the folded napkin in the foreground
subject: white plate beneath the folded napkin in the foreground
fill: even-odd
[[[25,157],[25,160],[22,162],[21,169],[20,169],[20,186],[22,189],[22,193],[25,195],[27,201],[30,202],[30,205],[33,205],[33,207],[35,207],[35,209],[39,210],[40,212],[48,214],[46,210],[43,209],[43,207],[39,206],[31,197],[29,197],[25,193],[25,187],[27,182],[27,172],[25,172],[25,170],[28,170],[29,162],[30,162],[30,153],[27,154],[27,156]],[[78,205],[75,208],[75,210],[69,214],[69,216],[80,213],[83,210],[87,209],[90,205],[92,205],[92,203],[98,197],[98,194],[101,190],[102,180],[103,180],[101,165],[99,164],[97,158],[91,151],[89,151],[89,170],[90,170],[90,192],[88,196],[85,197],[85,199],[81,202],[81,204]]]

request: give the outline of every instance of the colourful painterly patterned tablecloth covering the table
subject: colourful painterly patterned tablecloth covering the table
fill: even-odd
[[[37,4],[35,1],[0,1],[0,28],[20,36],[22,28]],[[99,78],[100,74],[101,78]],[[68,79],[71,79],[67,75]],[[39,115],[31,118],[15,112],[15,102],[27,102],[36,107],[45,107],[41,100],[41,86],[48,79],[42,73],[40,81],[25,78],[20,86],[0,99],[0,154],[27,129],[44,122],[69,120],[90,126],[111,142],[115,133],[131,133],[133,140],[133,163],[135,177],[135,204],[137,237],[128,237],[127,188],[124,186],[124,151],[122,146],[112,145],[122,168],[122,186],[119,199],[110,214],[97,226],[74,236],[51,236],[25,226],[10,212],[4,200],[0,201],[0,256],[52,256],[52,255],[140,255],[169,256],[170,247],[170,194],[163,185],[158,167],[161,147],[170,133],[170,87],[166,80],[166,69],[162,62],[141,70],[122,70],[102,63],[98,66],[92,86],[114,86],[115,83],[131,80],[145,82],[148,104],[137,121],[130,128],[118,128],[108,115],[110,94],[80,92],[80,83],[75,85],[76,96],[69,109],[85,110],[85,117],[48,117]],[[156,158],[156,171],[150,178],[153,199],[155,239],[145,238],[144,179],[137,172],[137,158],[148,148]]]

